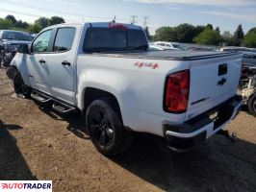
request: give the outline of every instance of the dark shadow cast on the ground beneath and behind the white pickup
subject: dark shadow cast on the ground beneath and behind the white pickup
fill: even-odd
[[[90,139],[79,115],[64,116],[40,108],[51,117],[68,122],[67,130]],[[59,116],[60,115],[60,116]],[[166,149],[163,139],[135,133],[131,147],[109,157],[120,167],[165,191],[254,191],[256,188],[256,145],[242,139],[231,143],[216,135],[185,154]]]

